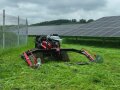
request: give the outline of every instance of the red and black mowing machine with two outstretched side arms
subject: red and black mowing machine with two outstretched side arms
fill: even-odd
[[[24,52],[21,57],[27,62],[30,67],[37,68],[44,63],[44,57],[54,57],[56,60],[69,61],[67,52],[76,52],[82,54],[88,58],[90,62],[101,63],[102,57],[89,54],[86,50],[76,49],[62,49],[60,48],[60,42],[62,39],[58,35],[48,36],[36,36],[35,48]],[[85,64],[85,63],[78,63]]]

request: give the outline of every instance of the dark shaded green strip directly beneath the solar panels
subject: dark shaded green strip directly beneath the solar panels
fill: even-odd
[[[86,46],[96,46],[104,48],[120,48],[120,39],[119,38],[64,38],[63,40],[66,44],[80,44]]]

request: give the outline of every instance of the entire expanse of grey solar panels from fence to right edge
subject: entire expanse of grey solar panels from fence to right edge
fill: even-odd
[[[120,16],[103,17],[88,24],[37,26],[29,35],[59,34],[61,36],[120,37]]]

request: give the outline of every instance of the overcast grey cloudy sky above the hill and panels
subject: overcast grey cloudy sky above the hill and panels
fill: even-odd
[[[120,15],[120,0],[0,0],[0,13],[28,18],[29,23],[55,19],[98,19]]]

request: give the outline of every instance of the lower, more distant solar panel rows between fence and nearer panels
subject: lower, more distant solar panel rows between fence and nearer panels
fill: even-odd
[[[50,35],[59,34],[66,36],[67,33],[73,32],[77,27],[82,24],[71,24],[71,25],[55,25],[55,26],[32,26],[29,27],[29,35]]]

